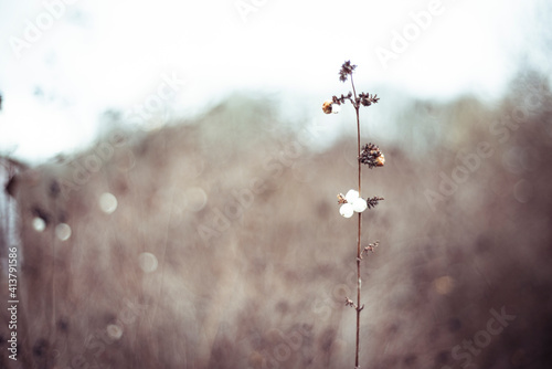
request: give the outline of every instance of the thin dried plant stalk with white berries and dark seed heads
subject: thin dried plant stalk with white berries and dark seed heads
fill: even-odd
[[[357,113],[357,147],[358,147],[358,162],[359,162],[359,190],[350,190],[347,192],[347,196],[341,193],[338,194],[338,203],[341,204],[340,213],[346,218],[352,217],[354,212],[359,213],[359,223],[358,223],[358,234],[357,234],[357,303],[354,303],[349,297],[346,297],[346,306],[351,306],[357,310],[357,349],[354,356],[354,368],[359,367],[359,346],[360,346],[360,313],[364,308],[364,305],[360,303],[360,289],[362,285],[362,280],[360,276],[360,262],[362,261],[363,254],[369,254],[369,252],[374,252],[375,247],[379,246],[380,241],[375,241],[374,243],[370,243],[363,249],[361,247],[361,238],[362,238],[362,212],[367,209],[372,209],[378,203],[383,200],[382,197],[372,197],[368,199],[363,199],[361,197],[362,190],[362,165],[367,165],[370,169],[376,167],[383,167],[385,164],[385,157],[380,151],[380,148],[370,143],[361,147],[360,145],[360,107],[361,106],[370,106],[372,104],[378,103],[378,95],[364,94],[360,93],[357,95],[357,89],[354,88],[354,82],[352,78],[352,74],[357,65],[351,64],[350,61],[347,61],[341,65],[341,70],[339,71],[339,81],[347,82],[347,80],[351,78],[352,92],[349,92],[347,95],[341,94],[341,96],[332,96],[331,99],[328,99],[322,105],[322,110],[326,114],[338,113],[341,104],[350,102],[354,107]]]

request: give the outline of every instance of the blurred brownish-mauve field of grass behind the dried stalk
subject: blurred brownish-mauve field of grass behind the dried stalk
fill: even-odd
[[[385,200],[363,217],[363,243],[381,245],[363,261],[362,368],[552,361],[548,86],[528,73],[492,105],[413,102],[393,123],[401,139],[376,141],[386,162],[363,171],[362,194]],[[2,324],[0,366],[352,367],[355,222],[336,194],[354,186],[355,143],[316,150],[316,135],[235,96],[23,170],[19,359]],[[474,170],[458,169],[467,157]],[[481,341],[501,308],[516,318]]]

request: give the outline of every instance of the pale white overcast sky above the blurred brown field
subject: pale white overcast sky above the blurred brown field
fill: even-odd
[[[521,63],[550,72],[549,14],[545,0],[2,1],[0,154],[83,147],[109,108],[190,116],[232,91],[318,102],[348,59],[363,85],[493,98]]]

